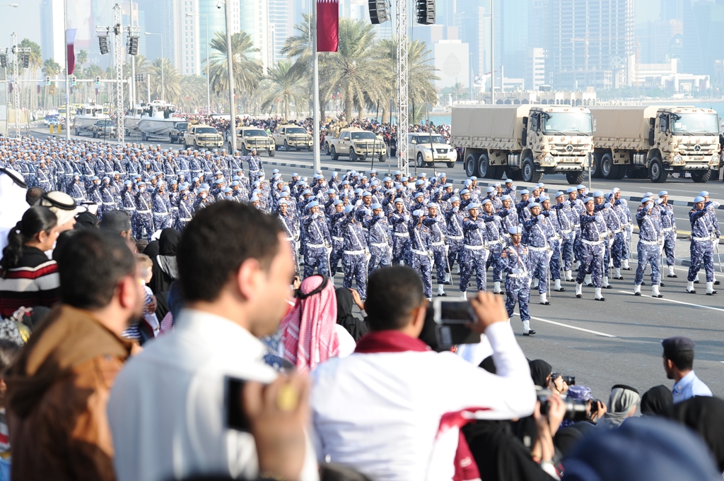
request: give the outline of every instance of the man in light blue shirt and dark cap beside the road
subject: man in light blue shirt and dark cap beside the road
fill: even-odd
[[[712,396],[712,391],[694,374],[694,341],[688,337],[670,337],[661,341],[664,347],[666,377],[676,381],[674,404],[694,396]]]

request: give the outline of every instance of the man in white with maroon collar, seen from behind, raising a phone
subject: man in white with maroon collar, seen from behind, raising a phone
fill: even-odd
[[[311,373],[320,461],[346,464],[376,481],[451,480],[461,425],[533,412],[528,362],[502,298],[479,293],[470,303],[478,318],[471,328],[489,339],[497,375],[418,339],[427,302],[415,271],[371,274],[365,302],[371,333],[350,357]]]

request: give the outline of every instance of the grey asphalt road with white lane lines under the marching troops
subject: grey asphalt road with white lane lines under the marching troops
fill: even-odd
[[[38,133],[40,133],[38,131]],[[36,134],[37,135],[37,134]],[[38,135],[41,136],[41,135]],[[179,148],[178,145],[161,143],[163,148]],[[312,154],[308,152],[279,151],[273,158],[262,156],[267,176],[272,169],[279,169],[285,179],[292,172],[303,176],[313,175]],[[345,158],[332,161],[322,155],[321,166],[324,171],[369,170],[371,163],[349,162]],[[381,176],[387,171],[397,170],[396,159],[385,163],[375,161],[374,168]],[[413,170],[414,167],[412,166]],[[461,184],[466,178],[462,163],[454,169],[441,166],[437,169],[420,169],[431,176],[437,171],[447,173],[448,182]],[[547,190],[556,192],[568,188],[563,175],[544,176],[542,179]],[[487,184],[489,179],[481,179]],[[585,184],[588,182],[586,180]],[[529,187],[516,182],[518,188]],[[457,187],[457,186],[456,186]],[[661,299],[650,297],[650,276],[646,276],[642,296],[633,296],[633,276],[636,260],[631,262],[633,271],[623,271],[623,281],[610,281],[613,289],[604,289],[605,302],[594,301],[594,289],[584,287],[584,297],[576,299],[573,283],[563,283],[566,291],[551,292],[550,306],[539,305],[537,291],[531,293],[531,328],[537,331],[535,336],[518,335],[518,342],[529,359],[545,359],[556,372],[576,376],[576,383],[592,388],[594,396],[607,402],[610,388],[618,383],[628,384],[639,389],[647,389],[664,384],[673,386],[673,380],[666,378],[662,367],[661,340],[670,336],[688,336],[696,342],[694,370],[700,379],[707,383],[715,396],[724,397],[724,283],[720,294],[707,296],[703,284],[704,272],[700,273],[702,284],[696,284],[697,294],[686,293],[686,273],[689,257],[689,242],[686,240],[690,228],[689,203],[701,190],[710,192],[712,200],[724,199],[724,183],[712,180],[706,184],[695,184],[691,179],[668,179],[664,184],[652,184],[648,180],[621,179],[607,181],[593,179],[592,190],[610,190],[619,187],[623,196],[629,200],[631,208],[636,207],[644,192],[657,194],[667,190],[673,201],[675,217],[679,229],[676,245],[678,278],[662,278],[665,287]],[[724,210],[718,210],[720,222],[724,221]],[[633,250],[636,250],[636,236],[633,236]],[[724,244],[720,246],[724,260]],[[683,265],[682,265],[683,264]],[[724,275],[717,276],[724,281]],[[455,270],[455,268],[453,268]],[[665,276],[665,269],[662,271]],[[335,284],[341,284],[341,276],[335,278]],[[474,285],[474,284],[473,284]],[[487,286],[492,288],[492,269],[489,270]],[[434,291],[437,284],[433,284]],[[448,296],[459,295],[458,276],[453,276],[453,285],[445,286]],[[516,334],[522,332],[522,324],[517,315],[512,325]]]

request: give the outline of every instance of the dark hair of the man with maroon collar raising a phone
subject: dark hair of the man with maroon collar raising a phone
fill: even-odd
[[[401,329],[424,300],[420,276],[403,266],[377,269],[367,280],[365,310],[371,331]]]

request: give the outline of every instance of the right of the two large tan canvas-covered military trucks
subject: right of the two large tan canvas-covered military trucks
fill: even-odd
[[[707,182],[719,169],[719,117],[711,108],[590,107],[597,120],[593,177],[666,182],[689,172]]]

